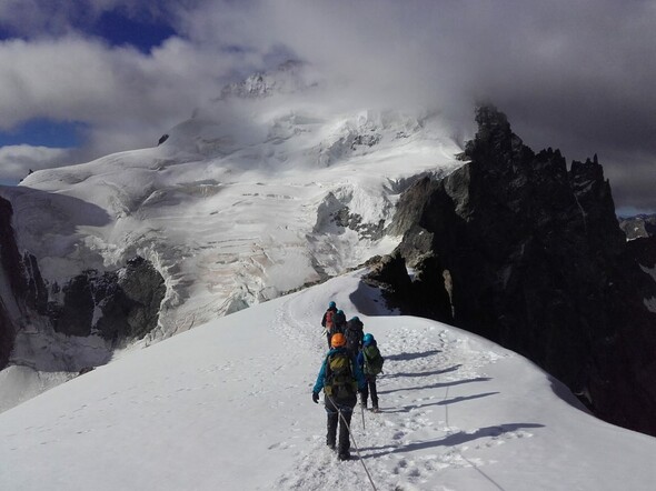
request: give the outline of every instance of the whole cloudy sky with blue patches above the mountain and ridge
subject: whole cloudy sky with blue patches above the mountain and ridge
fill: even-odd
[[[12,3],[0,8],[0,129],[81,121],[78,158],[152,146],[227,82],[296,58],[340,81],[322,101],[336,108],[423,108],[463,122],[476,101],[493,102],[533,148],[597,153],[618,208],[656,210],[650,1],[77,2],[88,13]],[[107,12],[175,34],[149,51],[116,46],[85,29]]]

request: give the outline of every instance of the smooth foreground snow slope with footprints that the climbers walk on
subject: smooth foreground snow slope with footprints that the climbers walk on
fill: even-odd
[[[338,462],[310,390],[328,300],[387,357],[361,461]],[[524,358],[390,315],[358,274],[213,320],[0,414],[0,489],[653,489],[656,440],[587,414]],[[355,452],[354,452],[355,453]]]

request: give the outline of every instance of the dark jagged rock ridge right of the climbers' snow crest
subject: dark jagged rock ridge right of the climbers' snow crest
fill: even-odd
[[[656,283],[627,250],[596,157],[567,171],[558,150],[534,153],[496,109],[476,119],[470,162],[399,201],[390,232],[404,236],[396,253],[415,269],[411,287],[384,267],[371,278],[406,312],[433,310],[518,351],[600,418],[656,434],[656,314],[644,301]]]

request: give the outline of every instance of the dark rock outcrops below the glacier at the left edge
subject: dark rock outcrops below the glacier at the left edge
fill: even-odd
[[[21,257],[11,217],[11,203],[0,198],[0,369],[10,359],[17,333],[29,325],[50,325],[74,337],[98,334],[109,349],[157,327],[166,285],[150,262],[138,257],[118,271],[89,270],[64,285],[49,284],[37,258],[28,252]]]

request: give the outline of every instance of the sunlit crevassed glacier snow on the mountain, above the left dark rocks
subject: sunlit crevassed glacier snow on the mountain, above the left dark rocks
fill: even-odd
[[[157,148],[0,188],[21,249],[59,283],[151,260],[168,287],[160,338],[390,251],[380,229],[397,197],[457,168],[460,143],[435,114],[345,113],[315,98],[219,99]],[[350,228],[334,221],[345,207]]]

